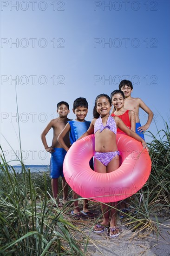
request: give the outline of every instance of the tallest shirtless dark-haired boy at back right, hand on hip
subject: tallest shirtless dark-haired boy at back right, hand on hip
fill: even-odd
[[[144,139],[144,132],[150,127],[150,123],[153,119],[153,112],[144,104],[144,101],[142,101],[140,98],[131,97],[131,92],[133,90],[131,81],[122,80],[119,84],[119,90],[124,92],[124,108],[133,110],[135,112],[137,135]],[[148,114],[148,120],[143,126],[141,126],[139,120],[139,108],[142,108]]]

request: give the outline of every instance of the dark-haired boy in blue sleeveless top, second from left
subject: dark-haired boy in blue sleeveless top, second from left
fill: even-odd
[[[69,150],[69,147],[65,144],[65,135],[70,132],[70,142],[73,144],[78,138],[83,135],[90,126],[90,121],[85,121],[85,117],[88,112],[88,102],[85,98],[78,98],[73,103],[73,113],[76,115],[76,119],[68,121],[63,131],[58,136],[58,141],[65,151]],[[93,160],[90,161],[90,167],[93,169]],[[78,195],[73,191],[73,199],[77,199]],[[72,215],[80,217],[82,214],[84,216],[92,216],[92,213],[88,209],[88,200],[84,200],[83,211],[79,210],[78,201],[74,201],[74,209],[72,210]]]

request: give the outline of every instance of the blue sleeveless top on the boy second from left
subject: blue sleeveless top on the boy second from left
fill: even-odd
[[[90,121],[78,122],[75,120],[68,121],[70,124],[70,142],[73,144],[78,138],[83,135],[90,126]]]

